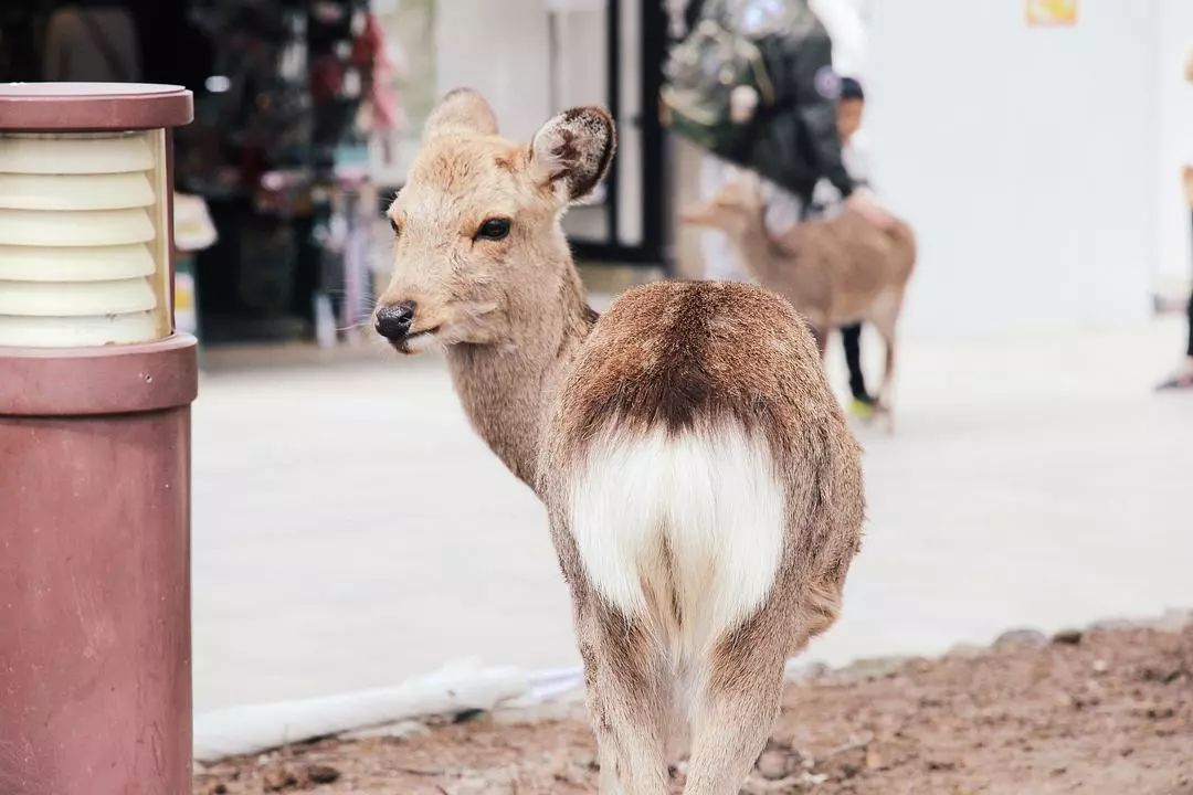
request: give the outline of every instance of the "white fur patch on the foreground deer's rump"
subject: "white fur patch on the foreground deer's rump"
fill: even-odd
[[[771,449],[736,423],[606,430],[571,473],[568,508],[593,586],[626,615],[649,616],[673,658],[749,619],[783,558]]]

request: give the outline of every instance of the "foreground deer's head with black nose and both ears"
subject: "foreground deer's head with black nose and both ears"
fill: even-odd
[[[560,219],[596,187],[613,148],[599,107],[560,113],[519,145],[497,135],[480,94],[447,94],[388,211],[394,275],[377,331],[406,353],[511,340],[574,278]]]

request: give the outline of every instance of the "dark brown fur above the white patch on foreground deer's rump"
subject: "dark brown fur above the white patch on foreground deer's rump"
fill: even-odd
[[[564,395],[564,433],[574,440],[591,439],[614,418],[678,433],[730,415],[771,430],[829,408],[802,400],[820,367],[803,323],[781,298],[748,285],[630,291],[598,321],[580,355]]]

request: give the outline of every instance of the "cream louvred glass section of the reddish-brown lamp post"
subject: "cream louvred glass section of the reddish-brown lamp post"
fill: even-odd
[[[0,346],[169,336],[166,133],[0,133]]]

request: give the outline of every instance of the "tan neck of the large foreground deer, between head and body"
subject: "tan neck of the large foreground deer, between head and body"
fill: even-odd
[[[596,319],[570,254],[564,248],[557,256],[557,290],[523,291],[511,304],[509,340],[447,349],[452,383],[472,428],[536,490],[542,429],[560,381]]]

